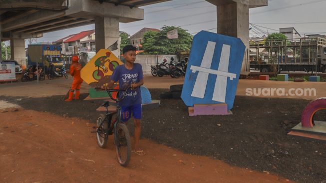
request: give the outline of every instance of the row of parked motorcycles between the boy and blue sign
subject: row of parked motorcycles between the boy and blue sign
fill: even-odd
[[[170,63],[166,59],[163,59],[162,63],[157,65],[151,65],[151,73],[153,76],[162,77],[163,75],[170,75],[174,78],[179,78],[186,74],[188,58],[178,63],[174,63],[174,58],[171,57]]]

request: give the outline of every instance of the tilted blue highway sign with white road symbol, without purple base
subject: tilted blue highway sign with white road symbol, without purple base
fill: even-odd
[[[181,98],[187,106],[233,107],[246,46],[240,38],[208,31],[194,36]]]

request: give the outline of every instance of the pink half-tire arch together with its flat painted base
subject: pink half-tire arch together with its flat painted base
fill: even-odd
[[[301,123],[288,134],[326,140],[326,121],[314,120],[315,114],[323,109],[326,109],[326,97],[308,103],[302,112]]]

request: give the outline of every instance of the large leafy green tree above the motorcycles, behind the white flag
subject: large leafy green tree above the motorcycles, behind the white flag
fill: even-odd
[[[178,29],[178,39],[167,38],[167,32]],[[189,51],[193,36],[187,30],[176,26],[163,26],[159,32],[148,31],[144,34],[143,49],[146,54],[177,54]]]

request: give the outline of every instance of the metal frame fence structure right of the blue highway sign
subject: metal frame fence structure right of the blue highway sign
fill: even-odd
[[[250,41],[251,71],[323,72],[325,38]]]

